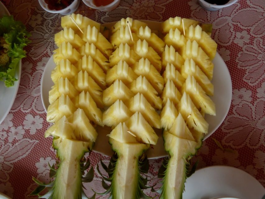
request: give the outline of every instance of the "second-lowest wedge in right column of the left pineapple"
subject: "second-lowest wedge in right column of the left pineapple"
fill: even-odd
[[[96,102],[91,97],[89,92],[85,92],[83,90],[72,101],[76,108],[81,108],[85,111],[87,118],[93,125],[98,124],[99,126],[103,127],[102,112],[97,107]]]

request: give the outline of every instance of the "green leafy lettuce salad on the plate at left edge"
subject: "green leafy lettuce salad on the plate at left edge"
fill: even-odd
[[[0,18],[0,81],[5,86],[14,85],[16,67],[21,58],[26,57],[23,48],[30,43],[30,33],[21,21],[15,21],[13,16]]]

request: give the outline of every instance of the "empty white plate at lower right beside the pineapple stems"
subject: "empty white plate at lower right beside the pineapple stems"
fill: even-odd
[[[262,199],[264,195],[262,184],[245,171],[230,166],[210,166],[187,178],[183,199]]]

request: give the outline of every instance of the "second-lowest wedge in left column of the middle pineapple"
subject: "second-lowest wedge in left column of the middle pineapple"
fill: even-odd
[[[132,116],[132,112],[119,99],[103,113],[103,124],[112,127],[120,122],[125,122]]]

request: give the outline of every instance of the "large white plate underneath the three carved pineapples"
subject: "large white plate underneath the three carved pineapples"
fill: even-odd
[[[160,22],[141,20],[148,23],[148,26],[152,30],[158,30],[160,27]],[[104,26],[111,27],[115,22],[103,24]],[[208,134],[205,135],[204,140],[208,138],[224,121],[232,100],[232,81],[231,76],[228,71],[228,68],[223,61],[222,57],[216,53],[215,58],[212,60],[214,64],[213,68],[213,78],[212,84],[214,86],[214,96],[211,97],[213,102],[216,105],[216,116],[205,115],[206,121],[209,123]],[[53,56],[48,60],[46,67],[43,71],[42,81],[41,81],[41,99],[45,111],[49,106],[49,90],[53,86],[53,81],[51,79],[51,72],[56,67],[56,64],[53,61]],[[112,155],[111,146],[108,144],[107,134],[110,133],[111,129],[104,127],[97,127],[98,138],[93,148],[94,151],[105,155]],[[155,146],[151,147],[147,151],[148,158],[159,158],[164,157],[166,152],[163,147],[163,139],[161,130],[157,131],[159,136],[158,142]]]

